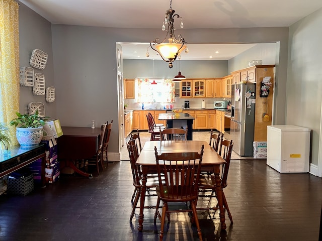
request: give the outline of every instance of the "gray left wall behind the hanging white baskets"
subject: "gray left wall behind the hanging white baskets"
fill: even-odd
[[[40,17],[34,11],[20,3],[19,8],[19,37],[20,37],[20,67],[31,67],[29,64],[31,53],[34,49],[40,49],[48,54],[46,67],[34,68],[35,73],[45,75],[46,87],[55,86],[54,67],[51,44],[51,23]],[[56,89],[57,91],[57,89]],[[59,91],[59,90],[58,90]],[[46,102],[45,95],[33,95],[32,87],[20,87],[20,112],[28,112],[28,103],[42,102],[45,105],[47,116],[56,118],[56,102]]]

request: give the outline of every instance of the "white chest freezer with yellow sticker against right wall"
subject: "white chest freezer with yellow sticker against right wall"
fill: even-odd
[[[278,172],[308,172],[310,129],[278,125],[267,127],[267,165]]]

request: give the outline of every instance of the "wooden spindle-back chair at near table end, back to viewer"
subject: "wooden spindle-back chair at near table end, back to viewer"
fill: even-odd
[[[158,155],[154,147],[158,185],[156,194],[163,201],[160,238],[163,240],[166,215],[170,221],[171,212],[191,212],[197,226],[199,239],[202,240],[201,229],[196,210],[198,198],[198,182],[204,146],[200,154],[197,152],[162,153]],[[190,202],[187,209],[169,210],[168,202]],[[158,210],[156,209],[156,213]],[[156,221],[154,216],[154,222]]]

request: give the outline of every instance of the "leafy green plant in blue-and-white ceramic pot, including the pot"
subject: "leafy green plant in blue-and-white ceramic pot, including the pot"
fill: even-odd
[[[10,125],[16,127],[16,137],[21,147],[30,148],[38,146],[43,136],[43,126],[48,116],[41,117],[39,111],[33,114],[16,112],[17,118],[12,119]]]

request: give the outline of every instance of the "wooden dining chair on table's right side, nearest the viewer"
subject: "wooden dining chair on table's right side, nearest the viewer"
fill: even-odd
[[[229,171],[229,166],[230,166],[230,158],[231,158],[231,151],[232,151],[232,147],[233,147],[233,142],[232,140],[223,140],[223,136],[221,137],[220,140],[220,145],[219,145],[219,155],[222,156],[222,158],[226,161],[225,164],[222,165],[221,168],[221,188],[224,189],[225,187],[227,187],[227,177],[228,177],[228,171]],[[210,207],[210,203],[211,203],[211,198],[212,197],[216,197],[216,183],[215,183],[215,178],[213,174],[203,174],[200,175],[199,178],[199,189],[202,189],[200,193],[203,194],[199,194],[199,197],[209,197],[209,203],[208,203],[208,207],[206,208],[198,208],[198,209],[208,209],[208,210],[218,210],[218,206],[216,207]],[[205,195],[205,192],[211,192],[210,195]],[[225,208],[225,210],[228,213],[228,217],[230,219],[230,222],[233,223],[232,221],[232,216],[228,207],[228,203],[224,194],[224,191],[222,191],[222,201],[223,201],[223,207]]]

